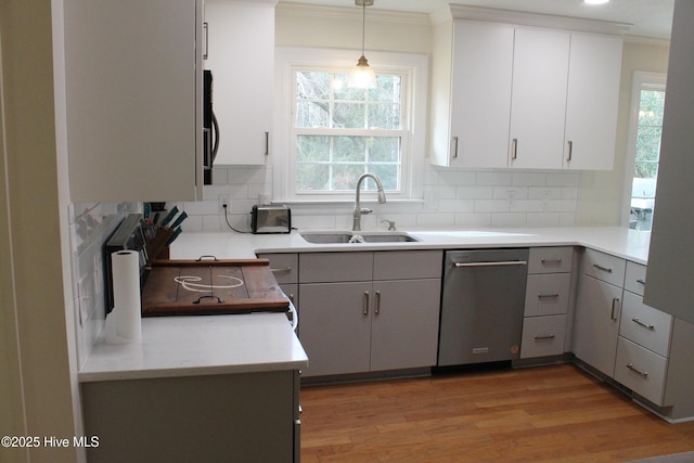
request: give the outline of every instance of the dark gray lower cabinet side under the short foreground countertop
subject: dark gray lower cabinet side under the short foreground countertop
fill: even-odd
[[[82,383],[100,463],[298,462],[298,372]]]

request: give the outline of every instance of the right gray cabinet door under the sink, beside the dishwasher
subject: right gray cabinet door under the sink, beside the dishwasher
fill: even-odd
[[[436,364],[439,280],[373,284],[371,371]]]

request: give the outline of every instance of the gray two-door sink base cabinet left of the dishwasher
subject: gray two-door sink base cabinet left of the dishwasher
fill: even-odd
[[[440,250],[299,255],[303,376],[436,364]]]

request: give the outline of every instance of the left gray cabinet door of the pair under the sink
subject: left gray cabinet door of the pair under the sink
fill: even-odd
[[[304,376],[369,371],[371,282],[303,284],[300,339],[308,355]]]

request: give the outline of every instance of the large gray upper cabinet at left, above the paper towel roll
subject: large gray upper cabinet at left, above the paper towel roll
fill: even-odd
[[[55,94],[70,201],[201,200],[202,1],[63,5]]]

